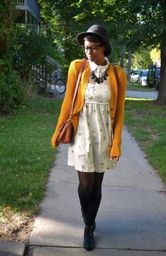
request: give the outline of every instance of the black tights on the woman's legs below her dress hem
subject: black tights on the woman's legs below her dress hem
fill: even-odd
[[[86,215],[87,225],[94,223],[98,207],[101,202],[101,185],[104,173],[84,173],[78,171],[79,201],[84,214]]]

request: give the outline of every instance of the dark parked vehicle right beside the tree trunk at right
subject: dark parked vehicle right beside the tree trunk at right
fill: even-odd
[[[148,87],[155,87],[155,90],[158,90],[158,85],[160,83],[160,67],[155,65],[148,68],[147,75],[147,85]]]

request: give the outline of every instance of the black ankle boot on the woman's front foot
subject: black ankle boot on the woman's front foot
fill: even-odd
[[[85,226],[84,228],[84,249],[93,250],[95,247],[94,233],[92,226]]]

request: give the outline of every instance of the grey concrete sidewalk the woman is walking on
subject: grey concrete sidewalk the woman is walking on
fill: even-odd
[[[166,196],[155,171],[124,128],[123,157],[106,171],[91,255],[166,255]],[[28,256],[87,255],[77,195],[77,171],[61,145],[34,222]]]

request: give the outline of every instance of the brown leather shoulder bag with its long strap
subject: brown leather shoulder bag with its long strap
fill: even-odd
[[[79,81],[81,79],[82,72],[84,71],[85,66],[87,66],[86,63],[88,63],[87,60],[83,59],[82,66],[79,70],[77,83],[75,86],[75,92],[74,92],[74,96],[72,99],[72,105],[70,108],[70,115],[69,115],[68,120],[65,121],[65,123],[62,124],[62,126],[60,126],[60,130],[58,131],[58,135],[56,137],[56,145],[59,145],[59,143],[68,144],[68,143],[72,142],[72,138],[73,138],[75,129],[72,125],[71,117],[72,117],[72,112],[73,112],[73,109],[75,106],[75,99],[76,99],[76,95],[77,95],[77,91],[78,91],[78,87],[79,87]]]

